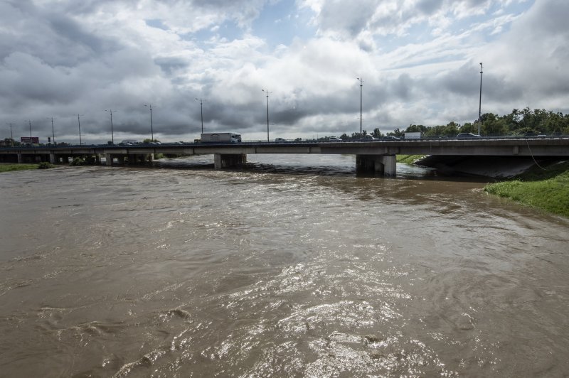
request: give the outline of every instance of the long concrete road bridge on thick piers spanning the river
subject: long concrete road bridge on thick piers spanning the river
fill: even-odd
[[[19,146],[0,148],[0,161],[67,162],[82,157],[107,165],[150,161],[154,154],[213,155],[214,166],[230,168],[247,162],[252,153],[317,153],[356,155],[356,166],[395,175],[395,155],[569,157],[569,136],[540,138],[407,139],[399,141],[285,141],[239,144],[135,144],[81,146]]]

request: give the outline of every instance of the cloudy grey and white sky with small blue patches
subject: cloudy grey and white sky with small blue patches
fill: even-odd
[[[203,114],[204,132],[267,139],[267,100],[270,139],[464,124],[480,63],[483,114],[565,114],[568,16],[567,0],[0,0],[0,137],[193,141]]]

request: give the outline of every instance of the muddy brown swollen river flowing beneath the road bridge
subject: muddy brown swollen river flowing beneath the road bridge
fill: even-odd
[[[569,221],[353,156],[0,175],[2,377],[563,377]]]

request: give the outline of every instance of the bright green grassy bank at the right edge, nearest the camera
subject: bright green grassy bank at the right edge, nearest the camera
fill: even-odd
[[[484,190],[522,205],[569,217],[569,161],[545,169],[535,167],[511,180],[488,184]]]

